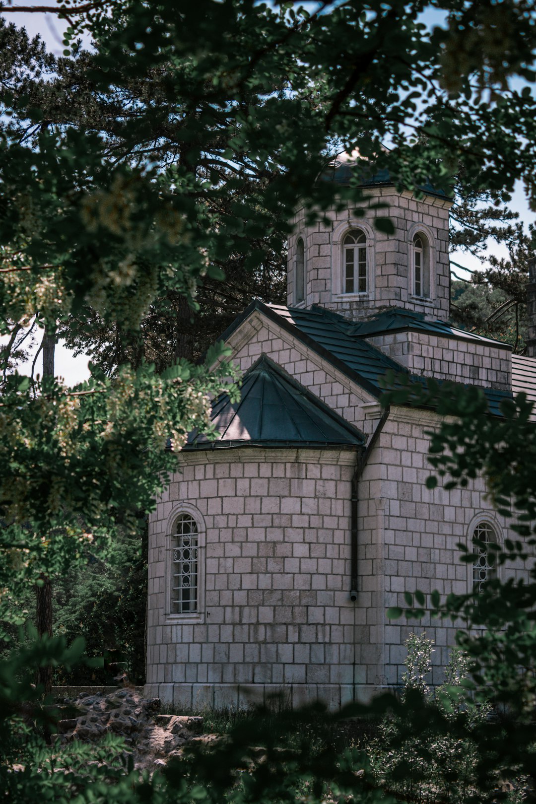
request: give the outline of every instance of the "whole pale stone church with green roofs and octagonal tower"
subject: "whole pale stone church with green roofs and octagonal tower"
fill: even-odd
[[[323,178],[347,183],[349,163]],[[388,209],[313,225],[298,209],[288,306],[253,301],[223,334],[241,401],[215,400],[219,441],[191,438],[149,520],[148,695],[223,708],[282,693],[338,708],[399,685],[404,641],[422,627],[441,680],[452,625],[386,610],[405,591],[481,583],[495,568],[485,552],[460,563],[456,543],[501,542],[507,525],[481,481],[426,488],[437,416],[383,412],[378,378],[477,385],[498,412],[512,392],[536,400],[536,358],[449,325],[451,201],[422,191],[400,193],[380,172],[366,194]],[[395,234],[375,230],[376,215]]]

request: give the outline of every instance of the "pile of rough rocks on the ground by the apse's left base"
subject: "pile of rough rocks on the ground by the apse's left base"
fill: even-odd
[[[82,692],[74,700],[63,701],[60,711],[62,708],[76,716],[59,720],[55,736],[59,744],[72,740],[92,742],[106,734],[116,734],[124,738],[127,749],[132,751],[134,766],[140,769],[165,765],[183,745],[199,740],[203,731],[202,717],[158,715],[158,699],[143,699],[128,688],[108,695]]]

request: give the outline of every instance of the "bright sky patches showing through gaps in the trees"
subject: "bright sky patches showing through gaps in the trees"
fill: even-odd
[[[8,0],[6,5],[16,8],[16,6],[23,5],[54,7],[57,4],[55,3],[55,0],[16,0],[16,2],[9,2]],[[5,11],[6,9],[3,8],[2,12]],[[47,43],[47,47],[52,53],[55,55],[61,55],[63,51],[62,34],[63,31],[65,31],[65,29],[68,27],[68,23],[66,21],[59,20],[55,14],[43,13],[17,13],[8,11],[5,16],[10,22],[13,22],[18,27],[26,27],[28,35],[31,37],[39,34],[45,43]],[[427,10],[423,14],[423,22],[430,26],[441,24],[443,20],[443,12],[437,10]],[[512,202],[509,206],[514,211],[519,213],[520,219],[524,221],[525,224],[534,223],[536,221],[536,213],[529,210],[521,183],[518,183],[513,194]],[[497,257],[508,256],[505,247],[497,245],[493,242],[493,240],[489,240],[488,251]],[[481,262],[477,260],[476,257],[464,254],[463,252],[453,252],[452,260],[455,260],[457,263],[464,265],[470,270],[481,268]],[[458,268],[456,268],[456,273],[460,277],[470,277],[470,273],[464,273]],[[21,371],[21,373],[30,373],[31,359],[30,363],[28,363],[26,367],[19,367],[19,371]],[[40,371],[40,369],[41,367],[39,366],[36,368],[36,371]],[[88,358],[84,355],[80,355],[76,358],[73,357],[72,352],[66,349],[63,346],[63,343],[60,342],[56,347],[55,352],[55,369],[56,374],[62,376],[66,384],[74,385],[82,382],[84,379],[88,379]]]

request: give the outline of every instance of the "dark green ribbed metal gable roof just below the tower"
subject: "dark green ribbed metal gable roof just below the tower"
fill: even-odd
[[[398,374],[410,375],[407,368],[384,355],[372,344],[367,343],[366,335],[356,335],[355,329],[360,325],[320,306],[313,306],[311,310],[305,310],[281,305],[266,305],[256,299],[223,333],[221,340],[227,340],[232,332],[255,310],[260,311],[266,318],[281,326],[282,329],[292,334],[306,347],[315,351],[317,355],[327,360],[333,367],[338,368],[354,383],[376,398],[383,393],[379,379],[385,375],[386,371],[391,369]],[[422,323],[423,326],[426,326],[429,322],[423,321]],[[441,322],[437,323],[441,324]],[[450,328],[446,324],[442,326],[445,327],[445,332],[442,334],[446,334],[446,330]],[[407,329],[408,326],[406,325],[404,328]],[[463,332],[463,330],[459,331]],[[440,333],[436,332],[436,334]],[[487,340],[479,335],[471,337]],[[496,344],[497,342],[488,341],[488,343]],[[426,377],[410,376],[414,382],[426,382]],[[499,404],[502,400],[512,399],[512,393],[498,391],[494,388],[483,388],[482,390],[488,399],[490,412],[496,416],[501,415]]]

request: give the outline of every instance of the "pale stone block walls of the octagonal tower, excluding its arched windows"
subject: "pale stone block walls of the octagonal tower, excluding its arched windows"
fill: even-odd
[[[389,204],[372,210],[369,203]],[[288,239],[288,306],[295,306],[294,269],[296,244],[305,244],[305,301],[302,306],[320,304],[347,318],[360,320],[378,307],[397,306],[425,314],[426,318],[446,320],[450,310],[450,269],[448,259],[448,210],[452,203],[428,195],[417,201],[411,193],[401,195],[394,187],[366,190],[365,215],[353,218],[349,210],[328,210],[329,224],[305,225],[305,211],[298,209],[293,219],[293,234]],[[374,218],[389,217],[395,234],[387,236],[374,229]],[[366,231],[370,266],[370,287],[366,295],[341,293],[341,237],[350,228]],[[413,234],[421,231],[432,247],[429,300],[415,297],[411,289],[409,269],[410,244]]]

